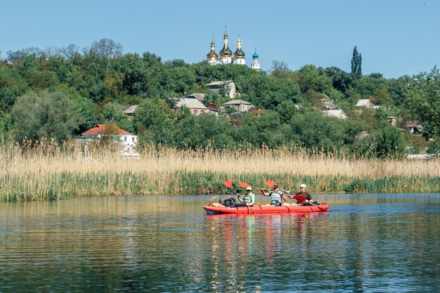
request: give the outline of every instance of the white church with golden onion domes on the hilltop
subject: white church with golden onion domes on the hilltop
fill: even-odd
[[[240,37],[237,41],[237,50],[232,53],[231,49],[228,47],[228,33],[225,32],[223,37],[223,48],[219,52],[219,54],[215,53],[215,44],[214,39],[211,42],[211,51],[207,54],[207,62],[211,65],[223,65],[223,64],[238,64],[238,65],[246,65],[245,52],[241,49],[241,40]],[[255,51],[254,55],[252,55],[252,65],[251,68],[254,70],[261,70],[260,63],[258,60],[257,51]]]

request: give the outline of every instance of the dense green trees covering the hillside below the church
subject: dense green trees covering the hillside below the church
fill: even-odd
[[[355,53],[354,72],[315,65],[290,70],[274,61],[266,73],[240,65],[164,62],[149,52],[123,54],[111,39],[82,50],[71,44],[8,51],[0,64],[0,131],[3,140],[63,141],[113,121],[138,134],[141,143],[177,148],[296,145],[375,157],[401,157],[408,146],[412,152],[426,146],[439,152],[439,70],[397,79],[380,73],[362,76],[361,55]],[[262,110],[238,117],[238,127],[226,116],[193,116],[184,109],[175,114],[164,101],[198,92],[224,103],[228,98],[204,85],[229,79],[238,84],[243,100]],[[323,116],[323,98],[333,100],[349,118]],[[355,105],[361,98],[380,108],[359,113]],[[139,105],[134,119],[122,114],[130,105]],[[399,124],[390,126],[388,116],[399,117]],[[412,119],[424,126],[424,139],[399,129]],[[363,131],[370,135],[357,136]]]

